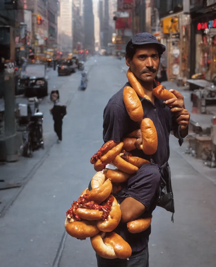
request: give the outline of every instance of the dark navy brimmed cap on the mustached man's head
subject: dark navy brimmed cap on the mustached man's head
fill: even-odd
[[[166,46],[158,42],[156,37],[151,33],[138,33],[134,35],[131,41],[134,45],[157,44],[159,50],[158,52],[161,54],[163,54],[163,52],[166,50]]]

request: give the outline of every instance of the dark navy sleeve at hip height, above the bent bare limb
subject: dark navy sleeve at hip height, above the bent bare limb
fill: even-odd
[[[155,165],[143,165],[128,180],[128,190],[126,197],[132,197],[142,203],[146,210],[149,209],[155,200],[159,189],[160,172]]]

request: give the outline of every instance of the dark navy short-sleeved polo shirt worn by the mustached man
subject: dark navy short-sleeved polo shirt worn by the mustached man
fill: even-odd
[[[124,87],[131,86],[126,83]],[[137,122],[130,119],[123,101],[124,87],[111,97],[106,105],[103,113],[103,140],[107,142],[114,140],[120,142],[128,133],[139,129]],[[157,151],[153,155],[145,155],[142,150],[133,150],[130,153],[133,156],[138,156],[147,160],[153,159],[154,163],[163,165],[169,159],[169,135],[172,129],[177,125],[173,124],[173,116],[168,107],[163,104],[163,101],[155,99],[155,104],[151,101],[140,98],[144,116],[153,121],[156,131],[158,146]],[[159,189],[160,173],[159,167],[155,165],[142,166],[134,175],[132,175],[123,185],[123,189],[115,195],[118,203],[127,198],[132,197],[141,202],[146,211],[143,217],[152,214],[156,207],[156,194]],[[128,207],[130,209],[130,207]],[[142,217],[141,216],[141,217]],[[127,230],[127,224],[120,222],[118,227],[114,230],[116,233],[127,241],[132,252],[136,253],[143,250],[148,245],[149,235],[151,233],[151,226],[142,233],[131,234]]]

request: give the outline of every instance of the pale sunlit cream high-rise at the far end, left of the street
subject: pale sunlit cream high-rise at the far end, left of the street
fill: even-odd
[[[61,52],[73,51],[73,2],[61,0],[59,5],[58,23],[58,46]]]

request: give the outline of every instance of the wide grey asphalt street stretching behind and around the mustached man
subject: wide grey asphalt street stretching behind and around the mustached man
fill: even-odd
[[[0,191],[1,201],[9,203],[9,198],[13,199],[12,206],[6,205],[0,218],[1,267],[97,266],[90,239],[70,237],[64,221],[71,203],[95,174],[90,158],[103,144],[103,109],[126,83],[126,69],[124,60],[90,57],[86,62],[89,81],[85,91],[78,90],[80,72],[57,77],[57,71],[49,71],[49,92],[59,89],[61,102],[67,104],[63,141],[56,143],[48,96],[40,104],[44,112],[45,150],[34,152],[32,159],[0,166],[4,175],[12,168],[11,180],[23,181],[24,185]],[[171,89],[169,82],[166,86]],[[182,93],[189,105],[189,93]],[[157,207],[153,212],[150,267],[215,267],[215,170],[209,171],[202,165],[194,167],[196,163],[184,155],[185,147],[186,144],[180,148],[171,136],[174,223],[168,211]]]

